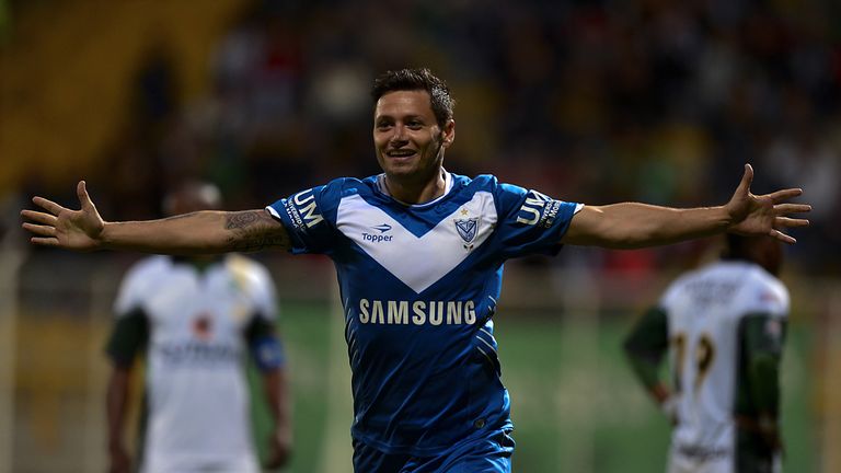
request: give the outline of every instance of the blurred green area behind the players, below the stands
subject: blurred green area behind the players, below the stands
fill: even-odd
[[[284,307],[279,326],[295,416],[295,454],[285,472],[352,471],[350,378],[341,318],[324,304]],[[631,315],[597,321],[500,311],[495,335],[516,426],[514,471],[664,471],[667,422],[621,353],[631,322]],[[791,327],[783,366],[784,470],[803,473],[818,468],[810,336],[803,326]],[[254,411],[255,435],[265,439],[265,407],[255,402]]]

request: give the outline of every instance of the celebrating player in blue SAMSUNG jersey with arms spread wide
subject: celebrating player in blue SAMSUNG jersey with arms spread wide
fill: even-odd
[[[499,378],[494,314],[506,259],[563,244],[642,247],[734,231],[807,224],[799,189],[756,196],[752,169],[724,205],[676,209],[584,206],[443,168],[456,139],[453,100],[426,69],[373,84],[382,174],[342,177],[265,209],[105,222],[84,182],[81,210],[35,197],[23,210],[35,244],[78,251],[220,253],[288,250],[335,263],[353,371],[357,472],[508,472],[514,441]]]

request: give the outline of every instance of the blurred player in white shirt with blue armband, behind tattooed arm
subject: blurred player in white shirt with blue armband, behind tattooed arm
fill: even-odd
[[[218,188],[187,183],[170,194],[166,214],[220,208]],[[106,353],[110,471],[134,471],[123,441],[131,371],[147,358],[140,471],[260,471],[251,430],[245,361],[262,373],[274,416],[268,468],[291,447],[289,402],[274,284],[265,267],[240,255],[151,256],[126,275],[115,302]],[[261,439],[263,440],[263,439]]]

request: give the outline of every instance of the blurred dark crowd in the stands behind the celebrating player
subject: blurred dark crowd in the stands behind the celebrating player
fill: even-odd
[[[184,101],[155,44],[107,150],[111,219],[159,215],[165,188],[217,182],[235,209],[377,173],[373,77],[429,67],[458,101],[446,166],[556,198],[724,204],[746,162],[756,193],[806,189],[791,261],[841,267],[841,9],[749,0],[257,1]],[[94,178],[97,178],[94,177]],[[600,264],[642,269],[670,250]]]

